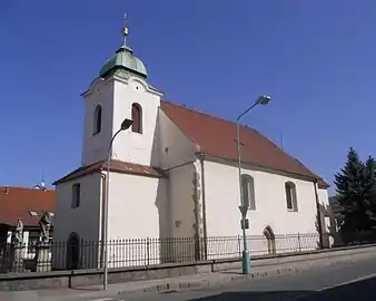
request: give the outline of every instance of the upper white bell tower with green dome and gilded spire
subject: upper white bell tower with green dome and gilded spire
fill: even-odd
[[[111,158],[141,165],[151,163],[162,94],[148,84],[147,68],[133,55],[128,35],[125,17],[121,46],[82,94],[83,166],[107,159],[110,140],[126,118],[132,119],[133,124],[113,140]]]

